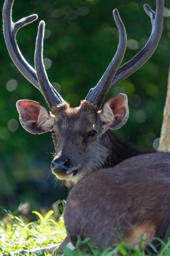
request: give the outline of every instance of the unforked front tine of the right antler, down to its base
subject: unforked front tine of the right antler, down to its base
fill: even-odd
[[[109,66],[107,67],[107,70],[103,74],[102,78],[96,85],[96,87],[92,88],[87,94],[87,97],[85,98],[86,100],[94,103],[94,105],[97,106],[98,108],[100,108],[102,101],[106,97],[106,93],[111,84],[111,81],[115,76],[120,63],[122,62],[122,59],[126,51],[126,44],[127,44],[126,29],[119,16],[119,12],[117,9],[113,10],[113,16],[119,31],[119,44],[118,44],[116,54],[113,57]]]

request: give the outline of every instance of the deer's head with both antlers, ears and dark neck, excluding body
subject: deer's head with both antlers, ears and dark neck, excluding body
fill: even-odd
[[[148,4],[144,10],[150,16],[152,32],[144,48],[130,61],[121,65],[126,51],[126,29],[117,9],[113,17],[119,32],[116,54],[96,87],[90,89],[80,106],[71,108],[55,90],[46,74],[43,62],[43,40],[45,22],[39,22],[35,69],[29,65],[17,45],[17,31],[35,20],[37,14],[12,20],[14,0],[5,0],[3,7],[3,30],[7,49],[14,64],[44,96],[50,108],[32,100],[17,101],[20,123],[32,134],[51,132],[55,157],[51,171],[59,180],[76,184],[84,176],[100,169],[116,166],[124,159],[146,153],[119,137],[112,130],[121,128],[129,117],[126,94],[118,94],[104,103],[107,94],[120,81],[141,67],[155,51],[163,27],[163,0],[156,0],[156,12]]]

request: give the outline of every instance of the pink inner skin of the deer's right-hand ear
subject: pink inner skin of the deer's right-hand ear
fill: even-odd
[[[111,107],[115,118],[124,115],[125,100],[126,99],[123,95],[115,95],[108,100],[109,106]]]

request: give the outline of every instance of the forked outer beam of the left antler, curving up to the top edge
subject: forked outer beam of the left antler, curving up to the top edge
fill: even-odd
[[[30,15],[28,17],[22,18],[21,20],[18,20],[17,22],[12,21],[12,6],[13,6],[14,0],[5,0],[4,7],[3,7],[3,30],[4,30],[4,39],[5,43],[7,45],[7,49],[9,52],[9,55],[11,56],[11,59],[13,60],[14,64],[20,70],[20,72],[26,77],[28,81],[30,81],[37,89],[40,90],[40,92],[44,95],[45,99],[49,100],[48,97],[46,97],[45,93],[41,90],[41,86],[39,85],[39,81],[37,79],[36,71],[29,65],[29,63],[25,60],[22,53],[20,52],[20,49],[17,45],[16,41],[16,34],[18,29],[23,27],[24,25],[27,25],[34,20],[37,20],[38,16],[37,14]],[[54,103],[56,105],[65,102],[62,97],[58,94],[58,92],[50,85],[51,89],[51,97],[54,98],[54,95],[57,99],[57,101]],[[50,95],[48,95],[50,96]],[[50,107],[51,101],[49,100],[47,103]]]

